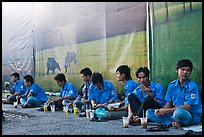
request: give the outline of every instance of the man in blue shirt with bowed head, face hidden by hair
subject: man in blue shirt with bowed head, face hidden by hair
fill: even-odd
[[[91,101],[93,109],[105,108],[107,104],[113,103],[117,99],[113,84],[110,81],[103,80],[101,73],[93,73],[92,83],[88,99]]]

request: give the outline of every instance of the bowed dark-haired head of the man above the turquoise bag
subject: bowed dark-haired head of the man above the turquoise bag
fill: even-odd
[[[92,83],[97,87],[97,88],[102,88],[103,87],[103,76],[101,73],[95,72],[92,75]]]

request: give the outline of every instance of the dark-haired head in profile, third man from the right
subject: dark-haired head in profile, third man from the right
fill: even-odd
[[[130,68],[127,65],[121,65],[116,69],[116,76],[118,81],[125,81],[132,79]]]

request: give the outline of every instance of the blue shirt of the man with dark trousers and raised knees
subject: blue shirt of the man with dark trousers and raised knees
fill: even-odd
[[[155,83],[150,81],[150,90],[154,98],[158,100],[158,103],[163,107],[165,105],[164,101],[164,88],[161,84]],[[148,96],[148,94],[141,89],[140,86],[138,86],[134,91],[133,94],[140,100],[141,103],[144,102],[145,97]]]

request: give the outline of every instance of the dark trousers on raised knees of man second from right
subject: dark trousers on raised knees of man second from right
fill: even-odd
[[[128,96],[128,101],[130,103],[130,108],[133,112],[134,116],[143,116],[143,110],[144,114],[146,113],[146,110],[148,109],[159,109],[162,108],[160,104],[156,101],[154,101],[153,97],[147,96],[143,103],[140,102],[140,100],[134,95],[130,94]]]

